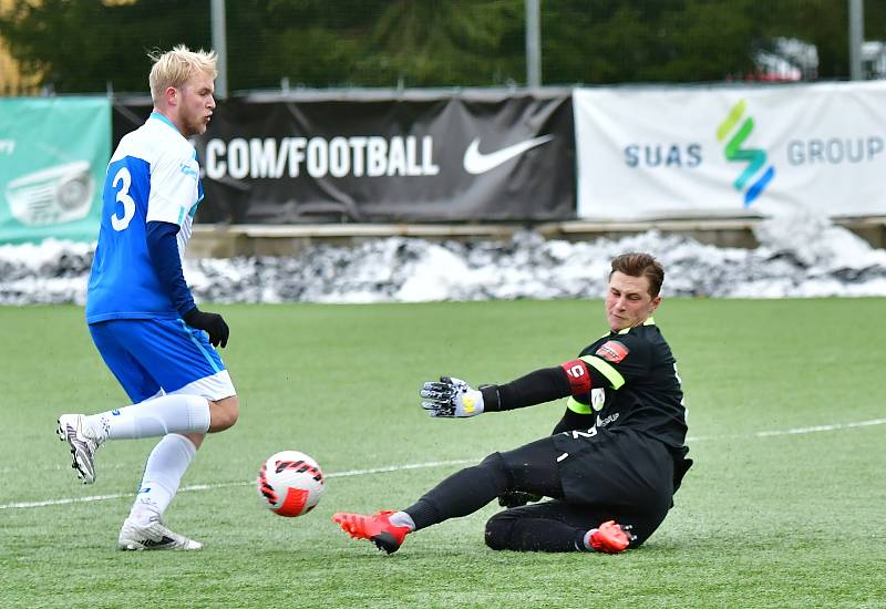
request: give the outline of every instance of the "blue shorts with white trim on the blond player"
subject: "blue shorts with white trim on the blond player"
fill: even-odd
[[[92,341],[133,403],[186,393],[234,395],[234,384],[205,332],[182,319],[112,319],[90,324]]]

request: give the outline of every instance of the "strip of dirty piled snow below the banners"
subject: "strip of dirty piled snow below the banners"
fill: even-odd
[[[755,249],[717,248],[650,231],[617,240],[430,242],[390,237],[354,247],[317,245],[291,257],[187,260],[197,301],[420,302],[596,298],[609,260],[653,254],[664,296],[785,298],[886,296],[886,250],[826,219],[763,221]],[[82,304],[94,245],[47,240],[0,246],[0,304]]]

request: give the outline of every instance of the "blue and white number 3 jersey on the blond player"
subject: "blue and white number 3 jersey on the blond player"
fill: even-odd
[[[177,318],[171,295],[151,264],[146,226],[150,221],[178,225],[178,256],[184,260],[194,214],[203,199],[197,151],[168,118],[152,113],[114,151],[102,199],[86,322]]]

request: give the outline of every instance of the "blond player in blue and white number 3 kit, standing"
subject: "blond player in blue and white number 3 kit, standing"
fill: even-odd
[[[203,199],[188,137],[215,110],[216,55],[175,47],[150,55],[154,110],[125,135],[107,165],[99,246],[86,295],[86,323],[131,405],[93,415],[63,414],[58,433],[84,484],[107,441],[161,437],[120,531],[121,549],[199,549],[174,533],[164,513],[207,433],[237,422],[239,401],[215,347],[222,316],[200,311],[182,271]]]

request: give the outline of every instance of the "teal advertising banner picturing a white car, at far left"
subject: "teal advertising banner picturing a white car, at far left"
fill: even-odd
[[[96,239],[110,157],[106,99],[0,100],[0,242]]]

